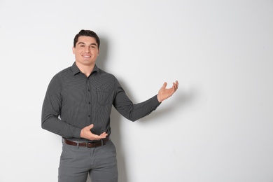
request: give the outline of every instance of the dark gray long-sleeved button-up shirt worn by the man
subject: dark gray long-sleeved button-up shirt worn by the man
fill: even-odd
[[[80,130],[94,124],[92,133],[111,134],[112,105],[128,120],[138,120],[154,111],[159,105],[156,95],[133,104],[120,83],[97,65],[86,77],[75,62],[57,73],[48,85],[42,109],[42,127],[72,140],[80,139]]]

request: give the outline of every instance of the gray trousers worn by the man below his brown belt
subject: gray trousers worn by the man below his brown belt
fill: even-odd
[[[63,142],[59,162],[59,182],[118,182],[116,147],[107,141],[104,146],[87,148]]]

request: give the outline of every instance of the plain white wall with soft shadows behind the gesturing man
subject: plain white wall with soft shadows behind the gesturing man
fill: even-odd
[[[273,181],[273,1],[1,0],[1,182],[57,181],[41,105],[80,29],[134,102],[180,83],[136,123],[113,111],[120,182]]]

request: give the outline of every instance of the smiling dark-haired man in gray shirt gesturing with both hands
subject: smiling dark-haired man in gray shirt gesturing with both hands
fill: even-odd
[[[157,95],[133,104],[115,76],[95,64],[99,37],[81,30],[73,41],[75,62],[57,73],[45,94],[42,128],[62,136],[59,162],[60,182],[118,181],[116,148],[109,138],[112,105],[128,120],[138,120],[154,111],[176,92],[179,83]]]

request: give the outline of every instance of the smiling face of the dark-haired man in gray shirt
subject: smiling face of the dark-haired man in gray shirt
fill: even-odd
[[[75,55],[77,64],[82,64],[82,66],[94,66],[97,56],[99,55],[96,39],[90,36],[79,36],[76,47],[73,47],[73,54]]]

